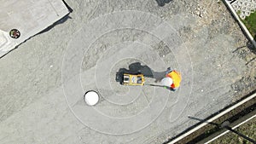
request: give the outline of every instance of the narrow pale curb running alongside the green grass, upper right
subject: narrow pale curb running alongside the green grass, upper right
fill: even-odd
[[[241,27],[241,30],[245,32],[246,37],[253,43],[253,47],[256,49],[256,42],[252,36],[252,34],[248,31],[247,26],[243,24],[238,14],[236,14],[235,9],[233,9],[232,5],[228,0],[223,0],[224,4],[227,6],[227,8],[230,10],[230,13],[234,16],[235,20],[237,20],[239,26]]]

